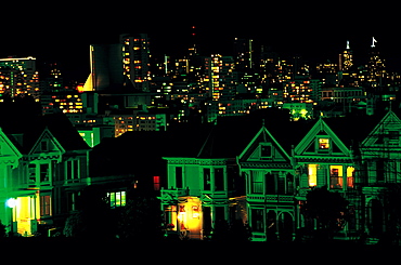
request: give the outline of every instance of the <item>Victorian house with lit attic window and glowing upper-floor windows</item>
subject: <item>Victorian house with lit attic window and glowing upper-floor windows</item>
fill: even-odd
[[[326,187],[329,191],[339,193],[344,198],[354,189],[355,161],[352,146],[349,145],[350,138],[337,134],[351,128],[347,128],[346,123],[338,128],[339,121],[345,120],[319,119],[294,148],[294,169],[299,177],[296,197],[297,204],[300,206],[298,209],[306,203],[307,193],[314,187]],[[348,132],[348,135],[352,134]],[[312,220],[307,220],[300,212],[297,215],[298,228],[318,228]]]

